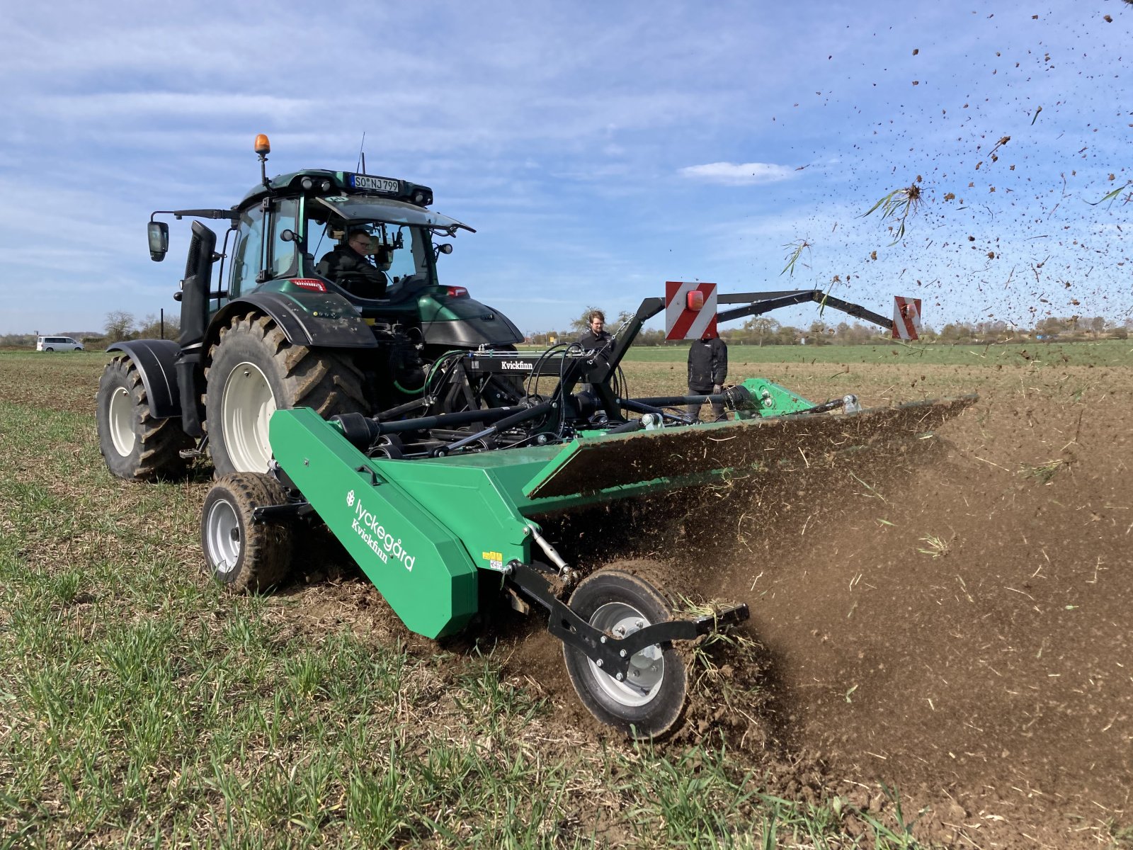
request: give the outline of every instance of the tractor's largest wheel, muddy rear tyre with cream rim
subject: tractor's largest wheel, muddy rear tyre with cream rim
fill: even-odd
[[[205,430],[218,477],[267,471],[267,422],[276,409],[310,407],[324,419],[369,413],[349,354],[292,345],[270,316],[235,317],[208,359]]]

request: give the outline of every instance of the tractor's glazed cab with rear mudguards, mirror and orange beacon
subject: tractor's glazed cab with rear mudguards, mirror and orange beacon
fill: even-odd
[[[154,219],[160,213],[230,221],[219,250],[216,235],[194,224],[182,291],[174,296],[182,300],[185,341],[208,345],[216,338],[214,329],[227,323],[240,305],[263,298],[282,298],[280,309],[303,314],[300,323],[308,329],[322,320],[333,323],[356,316],[375,331],[400,328],[421,345],[443,350],[510,346],[522,339],[506,317],[472,300],[467,289],[438,280],[437,258],[452,252],[448,240],[460,230],[476,231],[427,209],[433,203],[429,187],[325,169],[269,178],[265,137],[257,138],[256,151],[261,182],[235,206],[159,211],[151,216],[150,253],[155,261],[164,258],[169,244],[168,226]],[[347,252],[359,230],[368,241],[355,240],[353,248],[381,273],[360,270],[361,277],[370,279],[369,286],[360,286],[357,272],[351,280],[339,274],[337,263],[322,263],[335,252]],[[186,291],[190,280],[198,292]],[[274,315],[272,309],[269,313]],[[337,333],[323,342],[317,333],[299,341],[342,345]]]

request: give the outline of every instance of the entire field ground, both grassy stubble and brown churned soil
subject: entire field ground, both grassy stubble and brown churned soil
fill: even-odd
[[[751,605],[653,746],[537,622],[416,638],[324,539],[219,592],[211,470],[101,462],[105,360],[0,352],[0,848],[1133,848],[1133,343],[733,347],[812,401],[980,400],[915,453],[548,527]],[[625,376],[683,392],[683,352]]]

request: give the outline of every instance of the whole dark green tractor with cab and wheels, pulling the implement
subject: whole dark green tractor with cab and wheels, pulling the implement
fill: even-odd
[[[425,391],[445,355],[514,350],[522,340],[502,313],[440,282],[437,260],[452,252],[442,239],[475,231],[429,210],[432,189],[349,171],[269,179],[266,136],[256,138],[256,153],[261,182],[231,209],[151,215],[157,262],[169,228],[156,216],[194,219],[174,295],[181,334],[109,348],[120,354],[99,384],[97,424],[111,473],[172,477],[206,450],[218,475],[264,473],[276,409],[309,407],[330,417],[518,400],[520,388],[508,377],[470,384],[441,374]],[[216,233],[199,219],[229,222],[219,252]],[[386,281],[378,298],[357,295],[349,274],[329,277],[316,262],[358,232]]]

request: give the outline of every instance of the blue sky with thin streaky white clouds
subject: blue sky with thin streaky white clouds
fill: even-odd
[[[937,329],[1133,317],[1133,185],[1104,199],[1133,180],[1131,0],[60,0],[5,23],[0,334],[176,313],[188,221],[155,264],[150,213],[237,203],[258,133],[269,175],[353,170],[365,136],[369,173],[476,228],[442,281],[527,332],[667,280],[911,296]]]

